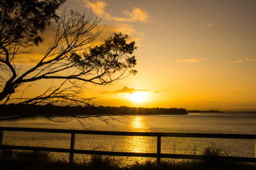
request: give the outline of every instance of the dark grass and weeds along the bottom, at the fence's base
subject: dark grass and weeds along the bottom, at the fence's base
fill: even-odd
[[[228,152],[214,146],[207,147],[202,155],[226,156]],[[236,163],[205,160],[161,160],[131,163],[121,167],[122,160],[111,156],[91,155],[90,159],[76,160],[73,164],[66,160],[54,160],[50,153],[41,151],[3,150],[0,159],[1,170],[256,170],[256,163]]]

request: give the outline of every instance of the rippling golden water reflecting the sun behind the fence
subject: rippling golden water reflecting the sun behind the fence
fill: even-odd
[[[131,131],[131,132],[176,132],[176,133],[229,133],[256,134],[255,113],[189,113],[188,115],[131,115],[128,117],[103,117],[110,125],[92,118],[82,121],[90,130]],[[56,117],[55,120],[60,120]],[[27,118],[17,121],[0,122],[0,126],[24,128],[56,128],[83,130],[75,119],[68,122],[53,122],[44,117]],[[4,143],[9,145],[44,146],[69,148],[70,134],[5,132]],[[230,156],[254,157],[254,140],[170,138],[162,137],[161,153],[201,154],[208,146],[216,146],[229,152]],[[121,152],[156,153],[156,137],[76,135],[75,149],[108,150]],[[67,159],[68,154],[52,153],[56,159]],[[75,154],[82,160],[86,155]],[[124,158],[124,163],[143,162],[148,158]]]

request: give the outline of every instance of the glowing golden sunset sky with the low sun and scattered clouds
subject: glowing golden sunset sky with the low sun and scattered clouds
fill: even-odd
[[[255,0],[67,0],[60,11],[65,6],[104,16],[100,40],[122,32],[138,47],[137,75],[87,84],[97,105],[256,109]],[[20,62],[33,65],[29,56]]]

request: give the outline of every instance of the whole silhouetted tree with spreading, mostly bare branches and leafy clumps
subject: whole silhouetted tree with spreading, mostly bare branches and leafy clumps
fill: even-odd
[[[90,82],[108,85],[130,74],[136,59],[132,55],[135,42],[126,43],[127,35],[109,37],[101,45],[91,47],[102,30],[97,28],[100,18],[92,13],[66,10],[55,14],[64,0],[3,0],[0,2],[0,102],[16,104],[88,105],[91,98],[82,90]],[[22,70],[15,62],[21,54],[42,42],[38,32],[59,20],[56,35],[39,62]],[[40,95],[30,98],[14,97],[17,87],[42,79],[63,80],[50,85]],[[25,88],[26,90],[26,88]],[[3,114],[3,112],[2,112]],[[35,113],[37,114],[37,113]],[[72,116],[72,115],[71,115]]]

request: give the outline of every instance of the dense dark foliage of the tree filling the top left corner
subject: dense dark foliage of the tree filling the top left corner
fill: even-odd
[[[56,9],[65,0],[1,0],[0,42],[3,46],[18,43],[23,47],[38,45],[40,35],[51,20],[59,16]]]

